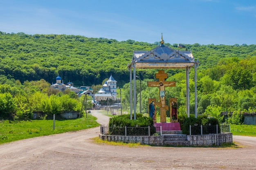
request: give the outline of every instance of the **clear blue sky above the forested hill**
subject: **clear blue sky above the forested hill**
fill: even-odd
[[[256,0],[0,0],[0,31],[256,44]]]

